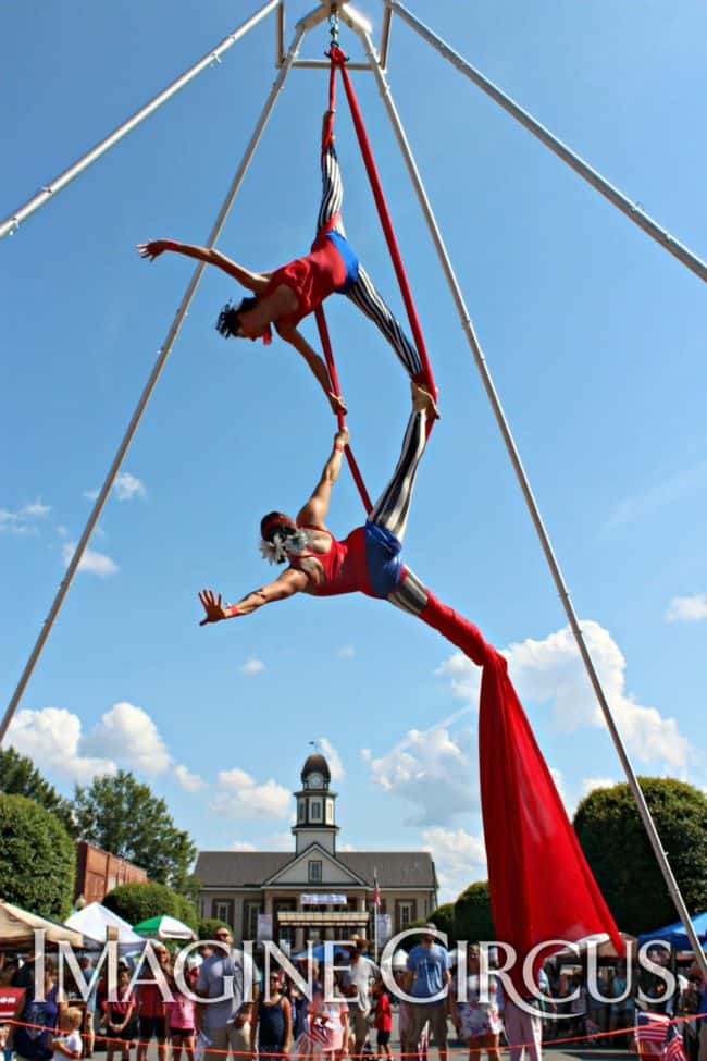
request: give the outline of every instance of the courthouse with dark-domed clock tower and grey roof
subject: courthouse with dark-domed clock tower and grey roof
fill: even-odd
[[[308,940],[373,938],[373,892],[395,934],[437,906],[426,851],[338,851],[337,793],[323,755],[310,755],[295,792],[294,851],[201,851],[196,876],[202,918],[219,917],[236,940],[272,938],[299,950]],[[263,916],[264,915],[264,916]]]

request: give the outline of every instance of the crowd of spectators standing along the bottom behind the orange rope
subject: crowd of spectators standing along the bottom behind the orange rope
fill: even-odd
[[[119,965],[117,989],[109,999],[106,979],[88,991],[57,978],[57,965],[44,960],[44,999],[35,995],[35,963],[20,965],[5,958],[0,966],[0,986],[24,990],[24,1004],[8,1035],[0,1029],[5,1061],[51,1061],[62,1056],[90,1058],[97,1045],[104,1047],[107,1061],[147,1061],[152,1043],[158,1061],[222,1061],[298,1057],[309,1061],[343,1061],[346,1058],[388,1059],[397,1012],[399,1049],[396,1056],[423,1058],[435,1047],[439,1061],[447,1061],[450,1029],[456,1048],[466,1045],[470,1061],[485,1053],[500,1061],[501,1046],[508,1046],[510,1061],[541,1061],[543,1039],[597,1038],[600,1033],[632,1028],[638,987],[655,999],[649,1009],[669,1016],[685,1016],[682,1024],[690,1061],[707,1061],[707,1032],[700,1043],[700,1022],[693,1015],[705,1012],[704,987],[696,969],[678,977],[678,990],[661,997],[665,982],[654,974],[631,977],[624,961],[599,970],[593,992],[581,969],[550,961],[539,973],[533,1012],[519,1006],[506,992],[492,969],[488,989],[482,992],[482,953],[479,946],[466,951],[463,975],[455,970],[455,954],[442,947],[434,925],[421,929],[420,942],[409,954],[401,952],[393,963],[399,990],[390,991],[380,967],[368,955],[368,943],[356,937],[337,959],[334,991],[325,991],[324,971],[317,959],[294,959],[299,977],[276,963],[265,973],[235,948],[224,925],[211,943],[187,960],[182,976],[168,948],[151,943],[162,974],[152,977],[147,966],[133,989],[132,970]],[[666,952],[667,953],[667,952]],[[667,961],[661,959],[660,961]],[[94,966],[80,959],[86,984]],[[268,983],[263,975],[266,975]],[[166,984],[171,1000],[163,998]],[[306,986],[306,989],[303,987]],[[326,985],[328,986],[328,985]],[[463,989],[462,989],[463,988]],[[334,998],[334,1000],[332,1000]],[[645,1008],[645,1006],[644,1006]],[[707,1025],[703,1025],[707,1028]],[[3,1041],[4,1037],[4,1041]],[[629,1046],[631,1034],[612,1038],[611,1045]]]

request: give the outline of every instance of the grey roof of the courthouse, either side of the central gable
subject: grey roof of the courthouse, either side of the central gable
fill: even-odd
[[[195,875],[204,888],[260,888],[296,855],[288,851],[200,851]],[[377,875],[381,888],[436,888],[427,851],[343,851],[336,859],[370,887]]]

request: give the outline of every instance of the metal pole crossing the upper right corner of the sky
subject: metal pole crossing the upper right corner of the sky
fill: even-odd
[[[555,136],[548,128],[542,125],[532,114],[529,114],[526,110],[523,110],[514,100],[507,96],[506,92],[501,91],[497,85],[488,81],[480,71],[467,62],[458,52],[450,48],[441,37],[438,37],[429,26],[425,26],[423,22],[415,18],[399,0],[384,0],[386,7],[395,11],[396,14],[402,18],[412,29],[414,29],[420,36],[432,45],[441,55],[447,59],[452,66],[456,66],[460,73],[474,83],[479,88],[482,89],[495,100],[500,107],[504,108],[516,121],[524,125],[525,128],[536,136],[541,143],[546,147],[549,147],[550,151],[557,155],[558,158],[567,162],[575,173],[591,184],[592,187],[596,188],[605,198],[612,202],[615,207],[618,207],[622,213],[627,215],[634,224],[637,224],[644,232],[659,243],[661,247],[669,250],[670,254],[678,258],[679,261],[691,269],[700,280],[707,281],[707,262],[704,262],[702,258],[693,254],[689,247],[680,243],[675,237],[663,229],[661,225],[654,221],[649,214],[642,210],[641,207],[629,199],[619,188],[610,184],[606,177],[601,176],[595,169],[593,169],[588,162],[580,158],[567,144],[562,144],[557,136]]]

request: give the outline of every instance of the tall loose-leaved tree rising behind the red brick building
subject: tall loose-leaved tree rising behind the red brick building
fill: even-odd
[[[74,815],[82,839],[141,866],[160,884],[179,891],[188,886],[197,853],[189,834],[176,828],[164,800],[127,770],[95,777],[87,788],[77,785]]]

